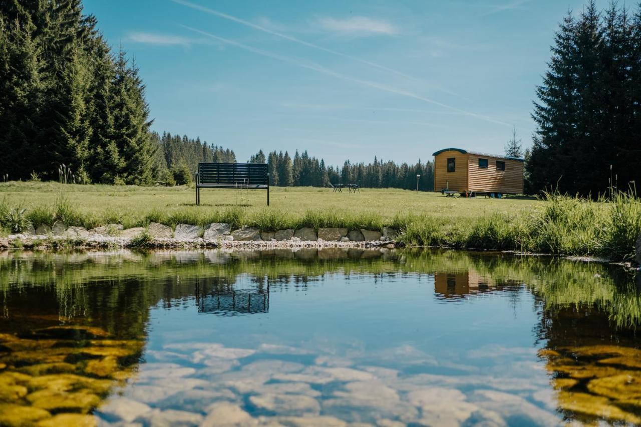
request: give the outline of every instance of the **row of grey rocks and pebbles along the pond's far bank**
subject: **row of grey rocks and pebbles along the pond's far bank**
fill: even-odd
[[[121,224],[108,224],[87,230],[79,226],[67,227],[56,221],[52,226],[31,227],[22,233],[0,238],[0,249],[397,247],[402,246],[397,242],[398,237],[397,230],[387,227],[383,232],[347,228],[262,231],[249,226],[232,230],[230,224],[212,223],[206,226],[178,224],[174,230],[165,224],[151,222],[147,227],[124,229]]]

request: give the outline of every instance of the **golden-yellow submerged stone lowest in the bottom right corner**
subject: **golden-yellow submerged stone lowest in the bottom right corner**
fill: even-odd
[[[641,423],[640,417],[630,414],[618,406],[611,405],[610,400],[603,396],[561,391],[558,393],[558,406],[566,411],[579,412],[608,420],[626,421],[632,424]]]

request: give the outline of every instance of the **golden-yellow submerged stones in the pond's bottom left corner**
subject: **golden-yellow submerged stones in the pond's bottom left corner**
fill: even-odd
[[[143,345],[93,326],[0,333],[0,425],[96,425],[90,414],[131,376]]]

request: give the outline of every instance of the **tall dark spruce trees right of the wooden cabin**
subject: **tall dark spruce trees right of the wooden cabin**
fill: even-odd
[[[560,23],[537,88],[529,192],[603,194],[641,183],[641,9],[594,1]]]

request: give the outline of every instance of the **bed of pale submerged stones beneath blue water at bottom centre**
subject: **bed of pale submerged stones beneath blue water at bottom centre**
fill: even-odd
[[[539,375],[541,367],[533,362],[529,349],[481,347],[468,356],[487,359],[487,369],[470,373],[469,367],[460,369],[463,365],[456,360],[441,362],[410,345],[379,351],[330,348],[328,342],[320,346],[328,351],[318,351],[318,343],[313,353],[306,345],[263,343],[251,349],[169,344],[162,351],[149,352],[159,362],[141,365],[138,380],[126,396],[156,412],[206,414],[205,426],[504,426],[559,421],[547,376],[544,371]],[[499,354],[509,354],[508,362]],[[193,367],[163,362],[173,356]],[[460,374],[403,371],[416,371],[420,365],[430,370],[459,366]]]

